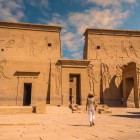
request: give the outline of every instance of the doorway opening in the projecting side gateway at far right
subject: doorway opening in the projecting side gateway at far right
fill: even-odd
[[[135,107],[135,91],[134,91],[134,79],[126,78],[126,104],[127,107]]]

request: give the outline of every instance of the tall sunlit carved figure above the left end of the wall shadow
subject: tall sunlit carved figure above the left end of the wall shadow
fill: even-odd
[[[109,84],[111,82],[111,75],[110,75],[109,67],[106,64],[103,64],[102,82],[103,82],[104,90],[106,88],[109,88]]]

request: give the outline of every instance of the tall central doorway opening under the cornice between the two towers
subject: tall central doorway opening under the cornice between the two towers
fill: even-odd
[[[69,101],[70,104],[81,104],[80,74],[70,74],[69,76]]]

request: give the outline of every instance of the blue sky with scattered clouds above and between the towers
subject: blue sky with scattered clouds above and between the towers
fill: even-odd
[[[140,30],[140,0],[0,0],[0,21],[62,26],[62,57],[81,59],[86,28]]]

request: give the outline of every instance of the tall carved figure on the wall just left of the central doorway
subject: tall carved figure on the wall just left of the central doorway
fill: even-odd
[[[56,65],[55,71],[52,73],[52,77],[55,80],[55,93],[59,95],[60,92],[60,86],[61,86],[61,66]]]

